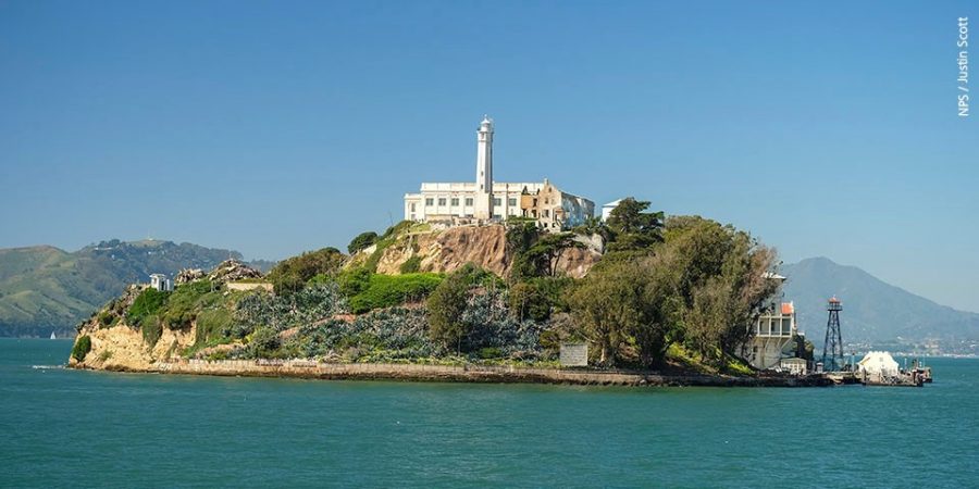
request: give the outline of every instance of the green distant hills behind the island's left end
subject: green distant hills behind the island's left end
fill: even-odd
[[[0,336],[59,336],[149,274],[209,269],[237,251],[171,241],[102,241],[75,252],[49,246],[0,249]],[[253,262],[268,269],[271,262]]]

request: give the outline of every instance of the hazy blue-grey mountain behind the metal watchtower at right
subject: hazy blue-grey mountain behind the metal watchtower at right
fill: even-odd
[[[826,333],[826,301],[843,301],[844,342],[979,339],[979,314],[957,311],[885,284],[855,266],[826,258],[783,265],[785,300],[795,302],[800,327],[821,347]]]

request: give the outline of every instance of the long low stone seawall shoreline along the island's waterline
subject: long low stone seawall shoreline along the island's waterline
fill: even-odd
[[[157,362],[149,367],[84,364],[69,368],[144,374],[210,375],[220,377],[287,377],[319,380],[395,380],[472,384],[550,384],[619,387],[829,387],[821,376],[735,377],[669,375],[655,372],[603,372],[572,368],[534,368],[491,365],[425,365],[411,363],[320,363],[269,360],[183,360]]]

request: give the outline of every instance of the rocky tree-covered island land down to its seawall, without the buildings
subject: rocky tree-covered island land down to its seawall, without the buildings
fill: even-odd
[[[134,284],[78,325],[75,368],[585,385],[820,386],[741,354],[776,252],[623,199],[567,230],[405,221],[268,274],[237,260]],[[585,346],[586,366],[561,349]],[[809,348],[798,348],[801,358]]]

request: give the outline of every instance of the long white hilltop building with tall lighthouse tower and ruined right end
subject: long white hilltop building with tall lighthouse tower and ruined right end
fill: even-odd
[[[405,220],[446,224],[530,217],[542,228],[559,230],[592,217],[595,203],[544,181],[493,180],[493,121],[483,117],[476,130],[475,181],[423,183],[405,195]]]

